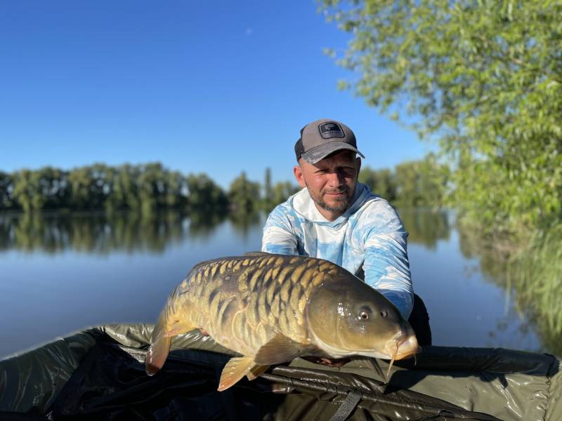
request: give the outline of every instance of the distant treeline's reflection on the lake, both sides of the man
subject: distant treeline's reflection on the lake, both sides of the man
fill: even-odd
[[[450,225],[445,212],[401,210],[408,241],[434,248],[448,239]],[[148,250],[162,253],[166,245],[191,239],[208,239],[228,219],[242,237],[263,223],[258,211],[159,213],[22,213],[0,215],[0,250],[15,248],[58,253],[74,250],[108,254]]]

